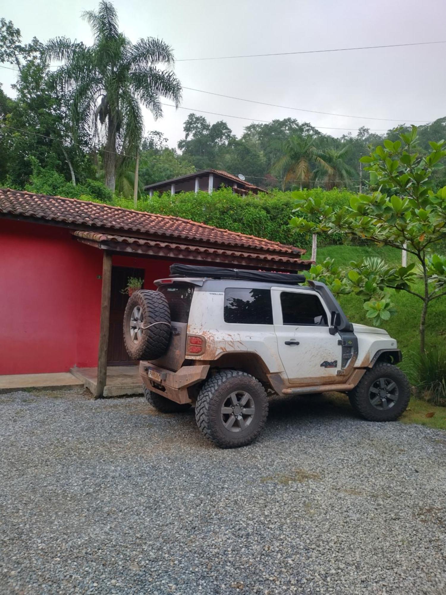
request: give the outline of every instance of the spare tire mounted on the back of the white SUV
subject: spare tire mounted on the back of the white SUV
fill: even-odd
[[[170,340],[170,309],[159,292],[139,290],[124,312],[124,345],[132,359],[158,359]]]

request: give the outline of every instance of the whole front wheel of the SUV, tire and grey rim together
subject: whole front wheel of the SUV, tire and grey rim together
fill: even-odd
[[[409,405],[406,374],[392,364],[376,364],[348,393],[351,406],[369,421],[395,421]]]

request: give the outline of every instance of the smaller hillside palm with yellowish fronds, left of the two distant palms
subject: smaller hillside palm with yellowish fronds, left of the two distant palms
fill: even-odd
[[[282,145],[284,155],[275,162],[272,172],[282,177],[282,190],[290,181],[298,181],[300,189],[310,180],[313,164],[321,170],[329,170],[313,136],[290,136]]]

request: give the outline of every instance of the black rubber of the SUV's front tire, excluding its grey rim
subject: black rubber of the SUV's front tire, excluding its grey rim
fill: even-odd
[[[369,391],[380,378],[392,380],[398,389],[398,397],[388,409],[376,409],[370,402]],[[361,378],[357,386],[348,393],[348,399],[354,411],[369,421],[395,421],[409,405],[410,384],[406,374],[392,364],[376,364]]]

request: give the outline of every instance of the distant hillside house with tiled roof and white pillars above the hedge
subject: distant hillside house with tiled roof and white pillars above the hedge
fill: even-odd
[[[232,188],[233,193],[241,196],[246,196],[249,192],[252,194],[266,192],[264,188],[247,182],[241,174],[240,176],[233,176],[233,174],[228,174],[227,171],[222,170],[194,171],[193,174],[149,184],[149,186],[145,186],[145,190],[150,196],[153,195],[153,192],[178,194],[178,192],[197,193],[199,190],[212,194],[213,190],[222,186]]]

